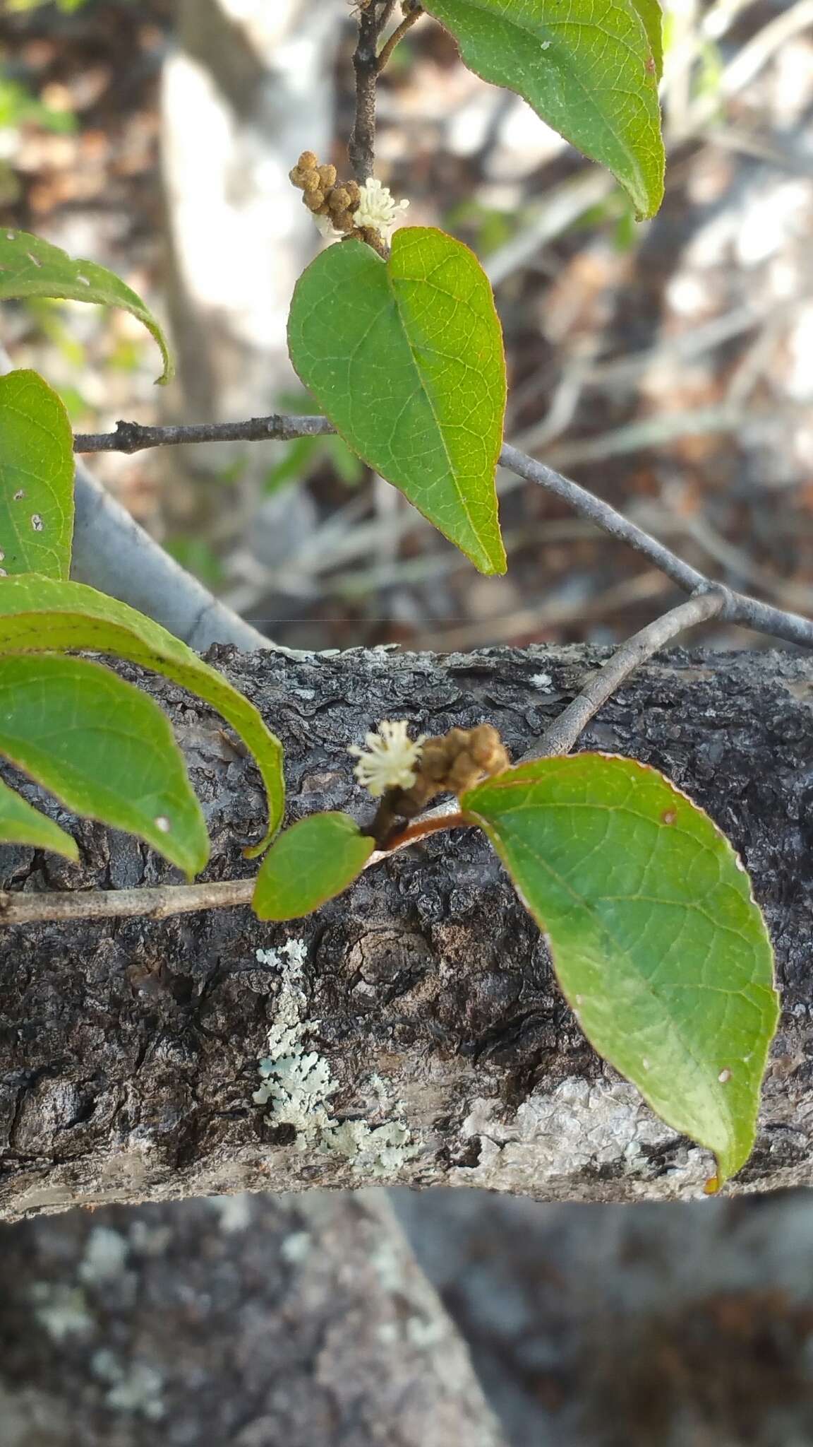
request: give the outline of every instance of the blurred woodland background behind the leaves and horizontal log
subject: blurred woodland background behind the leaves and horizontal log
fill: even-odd
[[[612,179],[428,17],[379,90],[378,175],[480,256],[506,437],[725,583],[813,612],[813,0],[668,0],[667,194]],[[168,323],[178,381],[123,313],[9,305],[17,366],[75,430],[315,408],[291,289],[320,245],[288,184],[347,174],[347,0],[3,0],[0,211],[111,266]],[[612,642],[673,586],[554,499],[499,479],[483,579],[337,438],[90,459],[162,544],[301,648]],[[716,647],[768,647],[710,625]],[[686,1207],[398,1197],[514,1444],[813,1441],[804,1195]],[[0,1428],[1,1444],[1,1428]]]

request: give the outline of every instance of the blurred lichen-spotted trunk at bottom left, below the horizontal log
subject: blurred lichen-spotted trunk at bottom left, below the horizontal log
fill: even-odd
[[[501,1447],[382,1192],[0,1229],[3,1447]]]

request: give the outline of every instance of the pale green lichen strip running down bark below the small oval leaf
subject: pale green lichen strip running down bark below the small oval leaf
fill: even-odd
[[[305,1036],[317,1029],[318,1020],[304,1017],[308,1003],[302,990],[304,941],[289,939],[279,951],[257,949],[256,959],[278,968],[281,984],[266,1053],[259,1062],[262,1084],[253,1092],[255,1106],[271,1106],[275,1126],[292,1126],[299,1150],[343,1156],[362,1175],[392,1175],[420,1153],[406,1123],[389,1119],[370,1126],[367,1120],[339,1120],[328,1104],[339,1090],[330,1064],[317,1051],[305,1049]],[[383,1114],[386,1085],[379,1075],[370,1077],[370,1088]]]

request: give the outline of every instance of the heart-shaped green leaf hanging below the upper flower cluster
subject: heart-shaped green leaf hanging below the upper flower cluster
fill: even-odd
[[[288,346],[350,447],[482,573],[505,573],[505,357],[473,252],[417,226],[395,233],[388,262],[365,242],[330,246],[297,282]]]

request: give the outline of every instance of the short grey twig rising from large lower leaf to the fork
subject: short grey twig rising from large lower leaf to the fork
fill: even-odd
[[[635,669],[647,663],[654,653],[664,648],[686,628],[694,628],[696,624],[707,622],[709,618],[718,618],[725,603],[723,592],[696,593],[686,603],[678,603],[663,618],[655,618],[652,624],[641,628],[632,638],[622,642],[603,669],[599,669],[587,686],[582,689],[582,693],[573,699],[573,703],[569,703],[545,729],[540,742],[528,750],[518,763],[525,764],[532,758],[547,758],[550,754],[569,754],[590,719]]]

